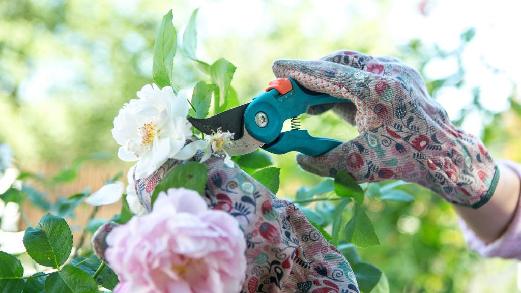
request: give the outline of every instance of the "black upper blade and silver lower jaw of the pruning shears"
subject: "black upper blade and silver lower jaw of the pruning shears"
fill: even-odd
[[[246,111],[248,105],[250,103],[205,119],[188,117],[188,120],[195,128],[207,135],[217,132],[219,128],[221,131],[233,133],[231,146],[226,149],[226,152],[232,156],[244,155],[264,145],[264,142],[253,138],[244,127],[244,111]]]

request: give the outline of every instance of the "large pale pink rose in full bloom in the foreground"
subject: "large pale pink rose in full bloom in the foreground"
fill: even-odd
[[[133,217],[107,238],[105,257],[118,292],[240,292],[246,242],[230,214],[208,209],[192,190],[159,194],[150,214]]]

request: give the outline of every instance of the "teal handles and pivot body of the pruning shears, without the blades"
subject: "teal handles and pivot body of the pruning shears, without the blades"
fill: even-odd
[[[265,143],[263,149],[275,154],[299,151],[316,156],[342,143],[312,137],[306,130],[281,131],[285,120],[305,113],[310,106],[349,103],[349,100],[308,90],[291,78],[275,81],[277,86],[268,87],[265,93],[255,97],[244,112],[245,128],[251,136]],[[256,121],[256,117],[261,114],[266,118],[263,119],[264,123]]]

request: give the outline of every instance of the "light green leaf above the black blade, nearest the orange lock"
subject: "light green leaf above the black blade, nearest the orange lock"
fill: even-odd
[[[221,108],[220,99],[222,98],[222,101],[226,103],[231,79],[235,69],[237,69],[237,67],[224,58],[220,58],[210,65],[210,79],[212,80],[212,83],[217,85],[214,93],[216,113]]]

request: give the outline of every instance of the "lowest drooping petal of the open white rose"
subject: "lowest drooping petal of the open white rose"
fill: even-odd
[[[158,139],[156,136],[152,142],[152,150],[145,152],[135,167],[135,179],[152,175],[168,160],[169,153],[170,139]]]

